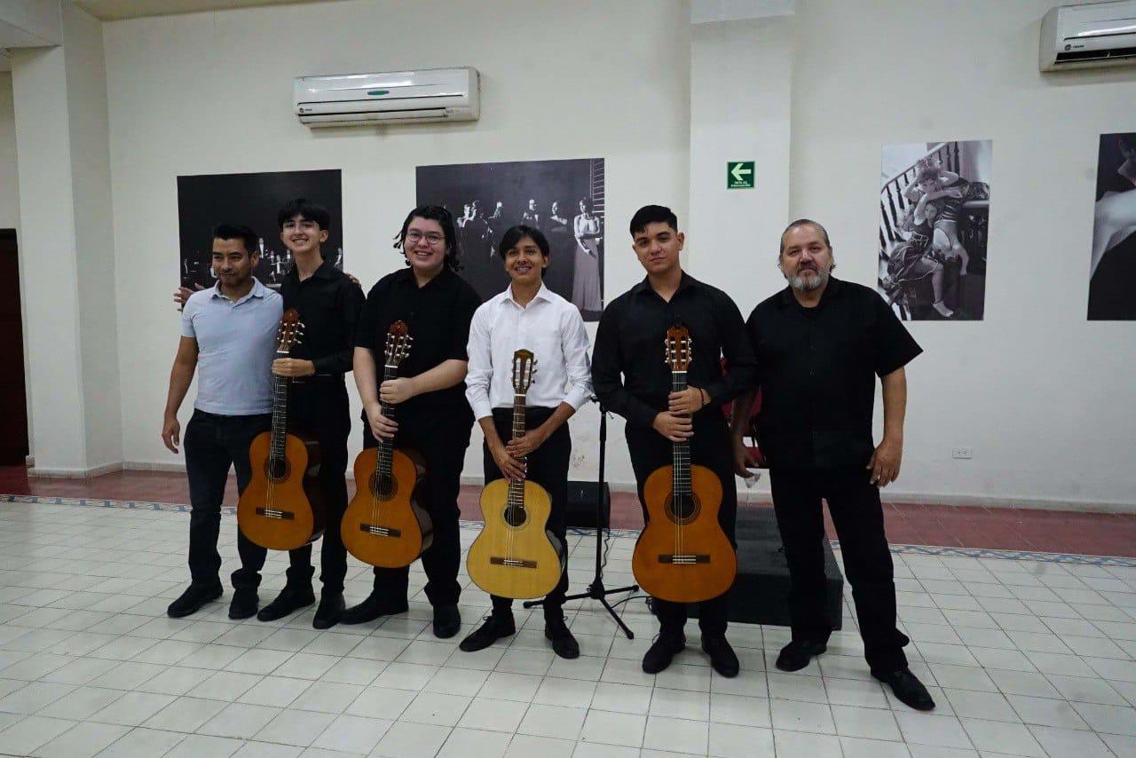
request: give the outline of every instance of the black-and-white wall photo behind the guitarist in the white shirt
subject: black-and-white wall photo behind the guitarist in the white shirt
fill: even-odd
[[[603,158],[419,166],[418,205],[443,206],[458,225],[462,277],[483,300],[509,275],[496,245],[506,230],[541,230],[551,249],[550,290],[579,308],[585,320],[603,310],[605,232]]]

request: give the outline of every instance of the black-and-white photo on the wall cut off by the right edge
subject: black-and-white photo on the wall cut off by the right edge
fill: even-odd
[[[1102,134],[1096,160],[1088,320],[1136,320],[1136,132]]]

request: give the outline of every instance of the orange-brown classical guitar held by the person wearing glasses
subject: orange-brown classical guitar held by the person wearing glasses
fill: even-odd
[[[403,322],[386,332],[383,381],[398,376],[399,364],[414,342]],[[383,402],[383,416],[394,418],[395,408]],[[371,566],[409,566],[434,539],[434,526],[419,505],[419,485],[426,474],[421,456],[378,439],[378,447],[359,453],[354,463],[356,494],[343,514],[343,544]]]

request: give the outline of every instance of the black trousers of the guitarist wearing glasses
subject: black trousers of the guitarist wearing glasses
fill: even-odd
[[[461,594],[461,585],[458,584],[458,567],[461,565],[458,493],[461,491],[461,469],[466,463],[473,418],[395,419],[399,422],[395,445],[412,448],[426,460],[426,480],[418,503],[426,509],[434,524],[434,541],[421,557],[423,568],[426,569],[426,597],[432,606],[453,606]],[[362,444],[365,448],[378,447],[366,424]],[[376,566],[375,593],[394,602],[406,601],[409,580],[409,566]]]

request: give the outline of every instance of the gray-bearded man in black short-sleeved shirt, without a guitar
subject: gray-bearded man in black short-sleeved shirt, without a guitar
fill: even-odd
[[[777,260],[788,286],[746,322],[762,393],[758,433],[790,569],[793,639],[777,667],[804,668],[832,633],[825,614],[825,499],[871,674],[905,705],[930,710],[935,702],[903,655],[910,640],[895,627],[879,502],[879,488],[899,476],[903,455],[903,366],[922,350],[874,290],[832,276],[833,249],[820,224],[790,224]],[[876,376],[884,386],[879,445],[871,436]],[[734,406],[734,465],[743,476],[754,465],[742,444],[752,405],[750,393]]]

